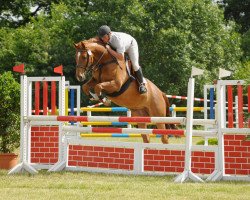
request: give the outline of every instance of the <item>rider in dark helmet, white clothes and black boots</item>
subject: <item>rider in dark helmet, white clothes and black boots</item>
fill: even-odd
[[[107,50],[116,59],[123,60],[124,53],[128,53],[136,79],[140,85],[139,92],[140,94],[146,93],[147,88],[145,86],[142,69],[139,65],[139,51],[136,40],[127,33],[111,32],[111,29],[107,25],[103,25],[98,29],[98,37],[107,44]],[[116,51],[110,48],[110,46],[116,49]]]

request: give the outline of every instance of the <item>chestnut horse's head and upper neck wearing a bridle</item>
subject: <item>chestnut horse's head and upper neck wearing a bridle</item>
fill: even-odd
[[[76,79],[84,81],[86,72],[99,64],[100,58],[105,52],[105,47],[98,38],[84,40],[74,46],[76,49]]]

